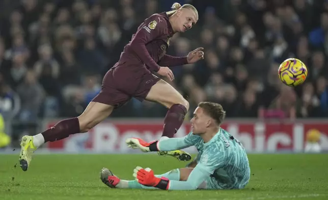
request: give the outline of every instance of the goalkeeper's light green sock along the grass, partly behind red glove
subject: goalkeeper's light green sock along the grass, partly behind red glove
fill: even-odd
[[[165,177],[169,180],[179,181],[180,180],[180,170],[174,169],[168,171],[166,173],[155,175],[155,177]],[[116,185],[116,188],[133,188],[133,189],[158,189],[155,187],[147,187],[138,183],[138,181],[127,181],[127,180],[120,180],[120,182]]]

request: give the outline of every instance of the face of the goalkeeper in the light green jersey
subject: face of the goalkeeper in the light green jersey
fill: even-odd
[[[206,132],[210,123],[210,118],[204,113],[202,108],[197,107],[194,112],[194,117],[190,121],[192,122],[193,134],[200,135]]]

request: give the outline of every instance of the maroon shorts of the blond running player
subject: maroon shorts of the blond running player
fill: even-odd
[[[92,102],[113,105],[115,108],[132,97],[142,102],[150,88],[159,80],[146,68],[122,64],[107,71],[102,80],[101,91]]]

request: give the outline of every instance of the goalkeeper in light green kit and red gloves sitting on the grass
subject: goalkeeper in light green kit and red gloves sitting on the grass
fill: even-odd
[[[250,165],[242,144],[220,128],[225,111],[220,104],[201,102],[192,118],[192,132],[182,138],[145,142],[128,138],[131,148],[143,152],[173,151],[189,146],[198,149],[197,158],[187,168],[154,175],[150,168],[136,167],[135,180],[116,177],[109,169],[100,172],[101,181],[111,188],[163,190],[242,189],[250,180]]]

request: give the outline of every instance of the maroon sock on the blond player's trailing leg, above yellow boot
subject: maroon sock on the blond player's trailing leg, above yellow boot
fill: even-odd
[[[77,117],[58,122],[50,129],[42,132],[44,142],[53,142],[67,138],[69,135],[79,133],[80,126]]]

